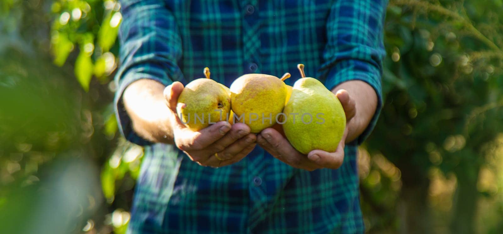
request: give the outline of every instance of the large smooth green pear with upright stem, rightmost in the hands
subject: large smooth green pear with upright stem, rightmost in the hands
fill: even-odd
[[[292,88],[283,112],[286,138],[302,154],[312,150],[335,152],[346,128],[346,114],[337,96],[317,79],[305,77],[304,65],[297,66],[302,78]]]

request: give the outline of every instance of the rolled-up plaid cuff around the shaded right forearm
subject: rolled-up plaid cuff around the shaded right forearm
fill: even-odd
[[[349,80],[362,80],[368,83],[377,94],[377,108],[369,125],[355,140],[358,145],[372,133],[382,107],[381,71],[368,62],[356,59],[342,60],[333,66],[325,80],[325,87],[332,90],[337,85]]]

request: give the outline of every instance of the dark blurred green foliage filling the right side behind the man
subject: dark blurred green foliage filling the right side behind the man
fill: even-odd
[[[366,144],[377,167],[361,186],[370,232],[503,232],[502,194],[479,176],[503,130],[501,16],[501,1],[390,1],[384,107]]]

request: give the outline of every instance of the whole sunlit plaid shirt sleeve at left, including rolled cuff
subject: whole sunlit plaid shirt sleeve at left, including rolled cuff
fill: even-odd
[[[120,64],[115,81],[115,111],[119,131],[138,145],[150,142],[132,130],[124,109],[122,93],[138,79],[152,79],[164,85],[183,80],[177,65],[182,56],[182,42],[175,17],[163,0],[121,0],[123,22],[119,28]]]

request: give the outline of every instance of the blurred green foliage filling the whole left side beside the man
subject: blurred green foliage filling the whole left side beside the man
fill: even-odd
[[[143,152],[111,104],[119,8],[0,4],[0,232],[125,232]]]

